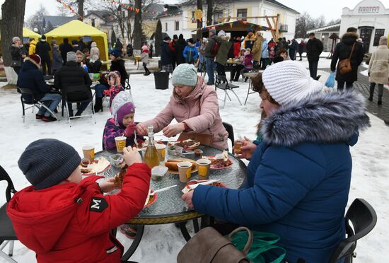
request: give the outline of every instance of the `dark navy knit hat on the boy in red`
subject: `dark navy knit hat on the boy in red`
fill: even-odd
[[[69,144],[56,139],[40,139],[25,148],[18,165],[28,182],[39,190],[58,185],[80,162],[79,153]]]

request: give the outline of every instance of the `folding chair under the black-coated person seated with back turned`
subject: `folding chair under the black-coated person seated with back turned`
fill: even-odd
[[[88,96],[88,92],[91,93],[91,90],[88,90],[86,85],[66,86],[62,89],[62,112],[64,112],[64,107],[66,107],[70,127],[70,119],[78,119],[80,117],[93,117],[96,124],[95,110],[93,108],[93,96],[92,93]],[[86,96],[89,98],[86,98]],[[75,99],[77,97],[82,99]],[[67,103],[91,103],[92,114],[70,117]]]

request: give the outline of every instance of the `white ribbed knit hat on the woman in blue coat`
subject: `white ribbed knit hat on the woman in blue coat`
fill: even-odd
[[[263,71],[262,81],[280,105],[302,100],[323,89],[323,84],[311,78],[303,64],[292,60],[268,66]]]

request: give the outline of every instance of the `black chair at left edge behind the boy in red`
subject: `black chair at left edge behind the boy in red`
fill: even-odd
[[[11,194],[15,194],[16,190],[13,187],[11,177],[9,177],[6,170],[0,166],[0,181],[3,180],[8,182],[8,186],[6,188],[6,204],[0,207],[0,257],[5,259],[6,262],[16,262],[16,260],[12,258],[13,242],[18,240],[18,238],[16,237],[15,230],[13,230],[11,220],[6,214],[6,206],[11,200]],[[8,254],[3,252],[3,249],[6,247],[6,245],[9,245]]]

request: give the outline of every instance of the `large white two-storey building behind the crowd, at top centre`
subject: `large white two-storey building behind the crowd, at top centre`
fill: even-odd
[[[216,1],[215,1],[216,2]],[[279,17],[280,37],[286,39],[294,38],[296,28],[296,18],[298,12],[288,6],[284,6],[275,0],[225,0],[222,3],[216,2],[216,12],[214,13],[212,24],[222,23],[223,18],[232,17],[231,21],[236,20],[233,17],[255,17],[255,16],[277,16]],[[220,4],[219,4],[220,3]],[[207,4],[203,0],[203,26],[207,25]],[[166,11],[161,13],[162,32],[167,33],[173,38],[173,35],[184,35],[184,38],[195,37],[192,30],[197,28],[197,22],[194,18],[194,11],[197,10],[197,1],[189,0],[183,4],[166,5]],[[250,23],[257,25],[267,25],[265,18],[247,18]],[[271,18],[269,18],[272,21]],[[272,34],[265,32],[267,39],[272,38]]]

